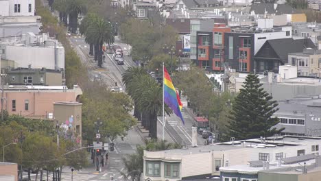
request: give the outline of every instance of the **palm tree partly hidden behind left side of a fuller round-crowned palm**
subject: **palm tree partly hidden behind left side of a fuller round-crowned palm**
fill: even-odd
[[[89,13],[87,14],[84,19],[82,19],[82,23],[79,26],[79,32],[80,34],[86,36],[87,34],[87,30],[88,27],[91,26],[91,23],[95,22],[96,19],[98,19],[99,16],[97,14],[94,13]],[[94,44],[89,42],[88,38],[85,38],[86,43],[89,44],[89,55],[93,56],[93,48],[94,48]]]

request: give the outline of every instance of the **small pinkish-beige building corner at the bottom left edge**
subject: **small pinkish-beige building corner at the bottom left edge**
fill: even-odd
[[[18,165],[12,162],[0,162],[0,180],[18,181]]]

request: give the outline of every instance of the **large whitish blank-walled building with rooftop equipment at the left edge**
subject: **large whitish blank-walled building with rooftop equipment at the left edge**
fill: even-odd
[[[47,34],[6,38],[0,42],[0,55],[2,68],[64,69],[64,47]]]

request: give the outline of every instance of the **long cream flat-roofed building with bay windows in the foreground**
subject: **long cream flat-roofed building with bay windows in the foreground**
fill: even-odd
[[[273,136],[169,149],[144,151],[143,180],[187,180],[220,176],[221,168],[246,165],[256,160],[277,162],[280,158],[319,154],[319,137]],[[311,149],[313,148],[314,149]],[[232,180],[229,180],[232,181]],[[244,181],[244,180],[243,180]]]

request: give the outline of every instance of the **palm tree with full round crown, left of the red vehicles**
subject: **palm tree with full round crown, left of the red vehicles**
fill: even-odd
[[[97,55],[98,67],[102,67],[102,45],[114,43],[115,35],[112,25],[104,19],[95,18],[86,29],[86,42],[95,45],[95,56]]]

